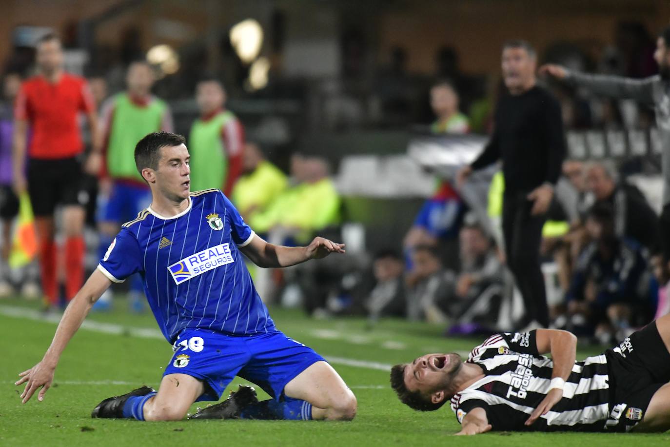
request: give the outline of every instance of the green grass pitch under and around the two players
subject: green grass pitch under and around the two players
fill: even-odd
[[[115,308],[89,316],[88,326],[66,348],[44,401],[34,396],[21,405],[13,382],[17,373],[40,361],[56,323],[36,320],[36,304],[0,301],[0,446],[670,445],[670,432],[450,436],[460,426],[448,405],[432,413],[405,407],[389,387],[384,369],[428,352],[465,354],[480,339],[444,338],[442,328],[427,324],[388,320],[369,328],[362,319],[310,320],[296,310],[272,308],[278,328],[324,355],[352,387],[358,398],[353,422],[94,420],[90,411],[99,401],[143,384],[157,387],[172,357],[172,346],[160,338],[151,314],[130,315],[123,300]],[[578,358],[595,353],[592,348],[580,350]],[[231,389],[239,383],[247,382],[236,379]],[[262,391],[259,398],[265,398]]]

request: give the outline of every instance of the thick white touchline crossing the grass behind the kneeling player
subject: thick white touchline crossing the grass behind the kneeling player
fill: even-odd
[[[0,315],[9,316],[12,318],[27,318],[34,321],[45,321],[51,323],[58,323],[60,315],[45,316],[42,312],[33,309],[16,308],[13,306],[0,306]],[[103,332],[104,334],[123,335],[127,334],[139,338],[155,338],[158,340],[165,340],[163,334],[157,329],[151,328],[131,328],[127,326],[120,326],[119,324],[102,323],[94,321],[86,321],[81,325],[82,328],[92,332]],[[377,371],[391,371],[391,365],[387,363],[369,362],[365,360],[346,359],[345,357],[324,356],[327,361],[336,365],[345,365],[349,367],[358,367],[366,369],[376,369]]]

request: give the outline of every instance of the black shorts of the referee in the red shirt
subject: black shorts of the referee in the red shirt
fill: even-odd
[[[28,161],[28,193],[36,216],[52,216],[56,205],[86,206],[89,194],[75,157]]]

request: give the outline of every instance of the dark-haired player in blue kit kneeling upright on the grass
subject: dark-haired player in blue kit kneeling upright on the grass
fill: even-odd
[[[344,253],[317,237],[308,247],[266,243],[219,190],[190,192],[184,137],[150,133],[135,147],[151,206],[127,222],[98,269],[70,303],[40,363],[20,374],[23,403],[42,387],[88,311],[113,282],[139,272],[158,325],[174,355],[156,393],[149,387],[102,401],[94,418],[181,420],[194,401],[216,401],[235,375],[251,387],[192,418],[351,420],[356,398],[323,357],[279,332],[259,298],[242,254],[260,267],[286,267]]]

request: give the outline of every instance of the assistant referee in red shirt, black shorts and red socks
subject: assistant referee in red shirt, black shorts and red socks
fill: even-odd
[[[54,244],[54,208],[63,206],[65,239],[66,298],[71,300],[84,280],[84,205],[88,194],[82,185],[84,144],[78,114],[84,113],[90,125],[93,151],[86,160],[86,171],[100,170],[95,103],[83,78],[63,70],[61,42],[54,34],[37,44],[39,74],[21,85],[14,117],[14,188],[26,189],[35,213],[40,243],[42,290],[48,306],[58,304],[56,245]],[[30,143],[27,144],[28,129]],[[27,178],[25,151],[27,148]]]

